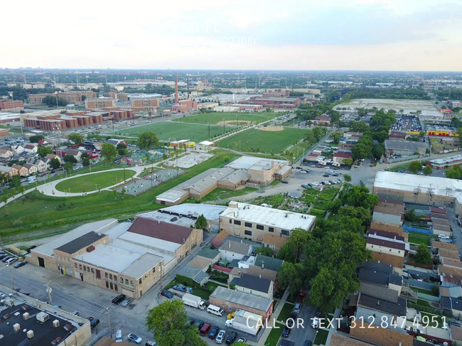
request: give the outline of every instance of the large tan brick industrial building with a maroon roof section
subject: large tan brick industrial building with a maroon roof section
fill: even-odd
[[[36,247],[26,261],[139,298],[202,241],[201,229],[145,217],[109,219]]]

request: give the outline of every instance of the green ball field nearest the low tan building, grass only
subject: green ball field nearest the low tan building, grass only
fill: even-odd
[[[240,151],[257,151],[264,153],[280,153],[287,147],[300,141],[309,130],[292,129],[285,127],[283,131],[262,131],[259,129],[247,129],[229,136],[218,145],[222,148],[230,148]]]

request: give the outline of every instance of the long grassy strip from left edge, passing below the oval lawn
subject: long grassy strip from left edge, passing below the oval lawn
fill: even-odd
[[[18,198],[16,202],[1,208],[0,234],[2,240],[7,242],[5,236],[31,232],[31,230],[49,229],[121,215],[131,217],[136,212],[159,209],[162,206],[154,202],[157,195],[209,168],[225,166],[232,158],[235,158],[227,152],[215,150],[214,153],[213,158],[191,167],[186,173],[138,196],[125,195],[122,198],[122,195],[114,195],[109,191],[70,198],[55,198],[36,192],[25,195],[23,198]],[[66,207],[58,209],[58,205],[62,205],[63,202]]]

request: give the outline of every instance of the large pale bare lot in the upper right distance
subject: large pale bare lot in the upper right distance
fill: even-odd
[[[384,108],[385,110],[394,109],[399,112],[400,109],[404,113],[421,111],[422,115],[437,115],[438,109],[431,101],[424,99],[353,99],[353,101],[338,104],[334,109],[339,108],[355,109],[377,107],[378,109]]]

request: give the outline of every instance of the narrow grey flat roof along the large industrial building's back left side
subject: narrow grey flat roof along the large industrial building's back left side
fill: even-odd
[[[72,231],[64,233],[60,237],[53,239],[49,242],[45,242],[44,244],[39,245],[33,252],[39,252],[41,254],[45,254],[48,256],[54,256],[53,249],[58,249],[62,247],[64,244],[68,244],[73,239],[81,237],[88,232],[104,232],[112,225],[116,225],[118,223],[117,219],[107,219],[101,220],[97,222],[90,222],[75,229]]]

